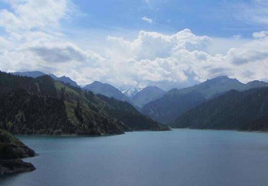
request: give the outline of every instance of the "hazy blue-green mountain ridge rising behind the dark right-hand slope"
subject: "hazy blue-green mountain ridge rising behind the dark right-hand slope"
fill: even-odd
[[[267,83],[263,81],[243,84],[237,79],[221,76],[192,87],[172,89],[162,98],[146,104],[140,111],[163,124],[170,124],[187,110],[230,90],[244,91],[265,85]]]

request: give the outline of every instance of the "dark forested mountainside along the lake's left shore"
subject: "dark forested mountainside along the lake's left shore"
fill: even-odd
[[[131,104],[96,95],[50,76],[0,72],[0,128],[14,134],[123,134],[169,130]]]

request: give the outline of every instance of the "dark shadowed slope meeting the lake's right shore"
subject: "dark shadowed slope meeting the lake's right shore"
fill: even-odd
[[[178,117],[176,128],[268,131],[268,87],[231,90]]]

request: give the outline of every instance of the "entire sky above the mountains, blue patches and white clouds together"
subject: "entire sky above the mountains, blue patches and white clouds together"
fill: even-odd
[[[268,81],[268,0],[0,0],[0,70],[164,90]]]

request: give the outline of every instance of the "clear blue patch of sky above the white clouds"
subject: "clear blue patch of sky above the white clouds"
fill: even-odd
[[[261,2],[265,0],[260,0]],[[85,49],[102,52],[108,35],[133,40],[138,32],[156,31],[173,34],[185,28],[197,35],[207,35],[215,41],[217,52],[227,52],[252,33],[268,30],[268,24],[249,18],[267,16],[260,10],[259,0],[98,0],[73,1],[80,11],[74,21],[63,25],[65,33]],[[263,13],[264,12],[264,13]],[[143,17],[151,19],[151,23]],[[236,38],[239,41],[233,41]],[[88,43],[92,43],[89,45]],[[219,46],[221,45],[221,46]],[[224,45],[224,46],[223,46]]]

